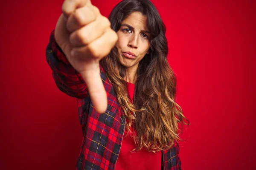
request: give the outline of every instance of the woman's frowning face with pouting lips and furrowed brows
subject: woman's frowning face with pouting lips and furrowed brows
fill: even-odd
[[[122,21],[117,35],[119,62],[129,71],[137,71],[140,60],[148,54],[150,48],[147,18],[140,12],[131,13]],[[125,52],[133,54],[129,55]]]

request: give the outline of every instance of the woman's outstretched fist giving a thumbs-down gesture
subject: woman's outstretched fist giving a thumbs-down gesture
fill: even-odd
[[[65,0],[55,28],[55,40],[73,68],[83,77],[97,112],[107,109],[107,94],[99,60],[118,40],[107,17],[90,0]]]

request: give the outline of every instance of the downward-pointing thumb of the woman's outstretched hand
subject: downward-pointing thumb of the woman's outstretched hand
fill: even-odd
[[[87,63],[87,69],[80,72],[87,84],[90,99],[93,102],[93,106],[98,113],[104,113],[107,110],[108,100],[107,94],[100,77],[99,61],[92,60]]]

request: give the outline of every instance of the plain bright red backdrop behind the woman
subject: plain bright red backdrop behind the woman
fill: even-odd
[[[92,0],[105,16],[118,2]],[[181,136],[182,169],[256,169],[254,1],[152,2],[167,27],[177,103],[192,123]],[[76,99],[56,88],[45,58],[62,3],[1,5],[0,169],[75,169]]]

